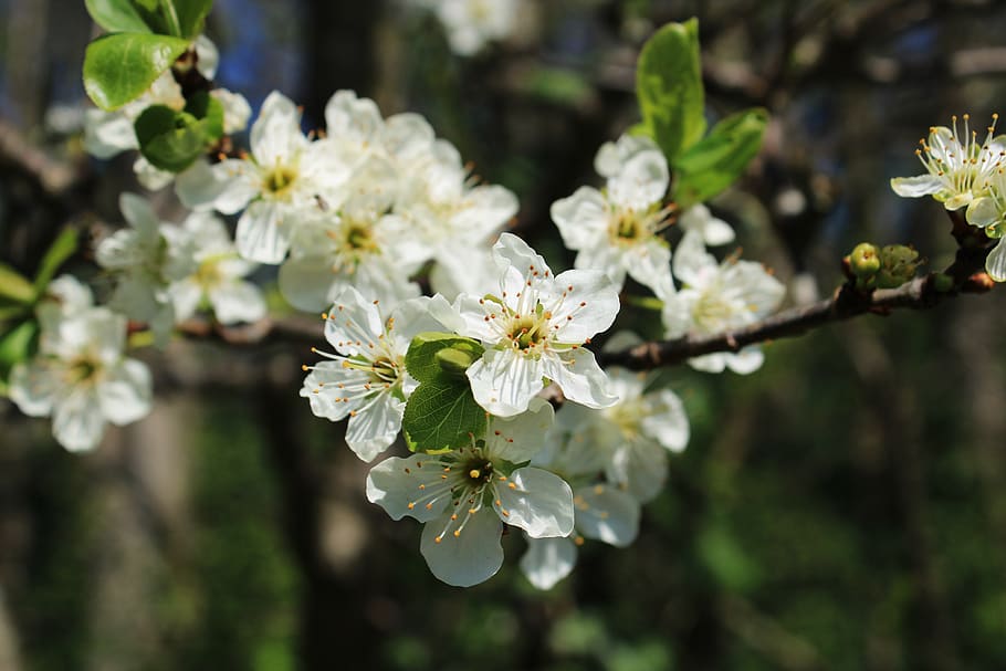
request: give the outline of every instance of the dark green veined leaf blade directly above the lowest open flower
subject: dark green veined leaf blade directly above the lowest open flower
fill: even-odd
[[[413,452],[450,450],[471,444],[471,434],[485,430],[485,410],[475,402],[467,378],[444,375],[412,391],[401,428]]]

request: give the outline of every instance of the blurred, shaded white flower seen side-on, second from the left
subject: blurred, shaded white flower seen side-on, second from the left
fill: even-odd
[[[146,199],[123,193],[119,209],[129,228],[102,240],[95,252],[98,265],[116,274],[109,305],[148,324],[158,346],[165,346],[175,325],[168,290],[196,272],[195,247],[186,231],[163,223]]]

